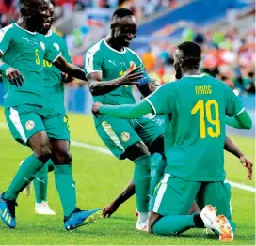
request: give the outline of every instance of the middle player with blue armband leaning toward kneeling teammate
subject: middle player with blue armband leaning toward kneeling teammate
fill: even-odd
[[[149,83],[138,55],[128,48],[136,37],[133,12],[127,8],[117,9],[110,28],[109,35],[88,49],[85,55],[89,89],[94,101],[135,104],[131,85],[137,85],[144,96],[152,93],[155,87]],[[107,115],[95,118],[95,126],[104,144],[117,158],[135,162],[136,230],[148,230],[151,154],[164,155],[162,129],[148,118],[126,120]]]

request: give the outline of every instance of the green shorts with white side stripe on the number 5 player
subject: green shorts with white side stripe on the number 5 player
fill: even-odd
[[[20,105],[5,109],[8,128],[15,140],[26,144],[38,131],[49,138],[70,141],[68,117],[37,105]]]

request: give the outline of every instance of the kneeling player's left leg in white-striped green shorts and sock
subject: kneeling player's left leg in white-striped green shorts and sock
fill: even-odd
[[[150,232],[171,236],[189,228],[203,228],[200,214],[187,215],[199,189],[200,182],[165,174],[152,198]]]

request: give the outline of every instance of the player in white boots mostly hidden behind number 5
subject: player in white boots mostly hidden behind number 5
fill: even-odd
[[[50,14],[52,16],[51,25],[54,16],[54,6],[50,5]],[[70,63],[72,63],[71,56],[68,52],[67,45],[63,38],[56,35],[55,32],[50,30],[51,25],[48,25],[42,30],[42,34],[45,35],[46,41],[50,45],[54,45],[59,50],[63,57]],[[72,81],[72,77],[67,74],[61,73],[59,69],[56,69],[50,62],[43,60],[43,83],[48,100],[48,107],[60,115],[64,120],[68,122],[68,116],[64,106],[64,83]],[[70,137],[68,136],[68,140]],[[56,213],[49,207],[47,202],[47,186],[48,186],[48,171],[54,170],[54,164],[50,160],[47,164],[40,169],[35,175],[33,180],[34,190],[36,195],[36,214],[41,215],[55,215]],[[32,185],[28,184],[24,189],[24,194],[28,196],[31,192]]]

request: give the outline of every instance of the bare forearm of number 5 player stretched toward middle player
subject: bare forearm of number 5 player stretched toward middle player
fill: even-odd
[[[57,69],[60,69],[68,75],[83,81],[87,81],[85,71],[73,65],[72,63],[68,63],[62,55],[60,55],[56,59],[56,61],[53,62],[53,64],[56,66]]]

